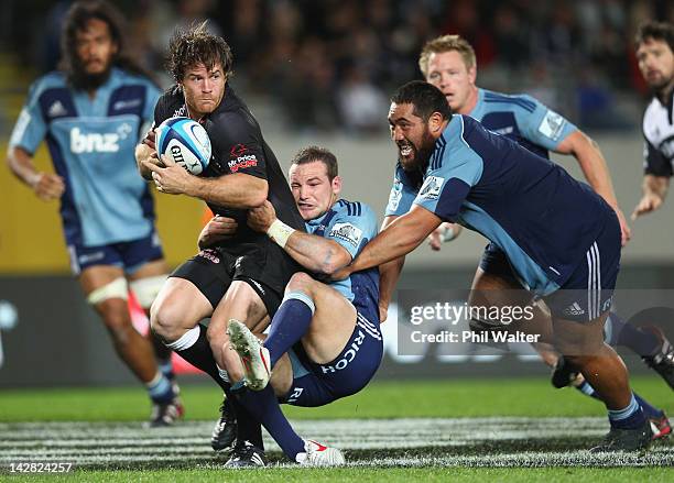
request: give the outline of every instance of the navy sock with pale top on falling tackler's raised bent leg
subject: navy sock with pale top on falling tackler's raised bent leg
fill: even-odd
[[[270,323],[264,341],[272,367],[306,333],[313,316],[314,303],[306,294],[293,292],[286,296]]]

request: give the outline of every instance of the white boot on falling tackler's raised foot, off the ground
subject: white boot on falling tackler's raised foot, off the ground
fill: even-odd
[[[269,350],[244,323],[236,319],[229,319],[227,334],[231,348],[237,351],[243,363],[246,386],[253,391],[262,391],[271,377]]]

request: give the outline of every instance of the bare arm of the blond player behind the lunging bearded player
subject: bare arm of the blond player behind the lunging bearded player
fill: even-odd
[[[578,130],[566,136],[566,139],[559,143],[555,152],[559,154],[572,154],[578,161],[587,183],[611,206],[611,208],[613,208],[620,221],[622,245],[624,245],[631,238],[630,227],[627,224],[624,215],[618,206],[618,199],[616,198],[613,184],[611,183],[611,175],[606,160],[599,150],[599,145],[583,131]]]

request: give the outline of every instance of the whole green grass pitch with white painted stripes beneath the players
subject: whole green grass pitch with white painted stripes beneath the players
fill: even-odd
[[[660,378],[632,385],[674,413]],[[602,405],[544,378],[374,382],[323,408],[285,407],[301,435],[345,449],[343,469],[289,466],[265,440],[274,468],[224,470],[227,455],[208,446],[218,391],[186,386],[183,399],[184,422],[146,430],[150,407],[134,387],[1,391],[0,465],[75,462],[65,475],[6,473],[26,481],[674,481],[668,441],[646,455],[588,453],[608,427]]]

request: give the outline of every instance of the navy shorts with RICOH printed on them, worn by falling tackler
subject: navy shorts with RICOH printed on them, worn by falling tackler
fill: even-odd
[[[379,309],[360,310],[356,327],[341,353],[327,364],[316,364],[301,344],[289,351],[293,385],[282,403],[293,406],[324,406],[362,389],[374,376],[383,356]]]

